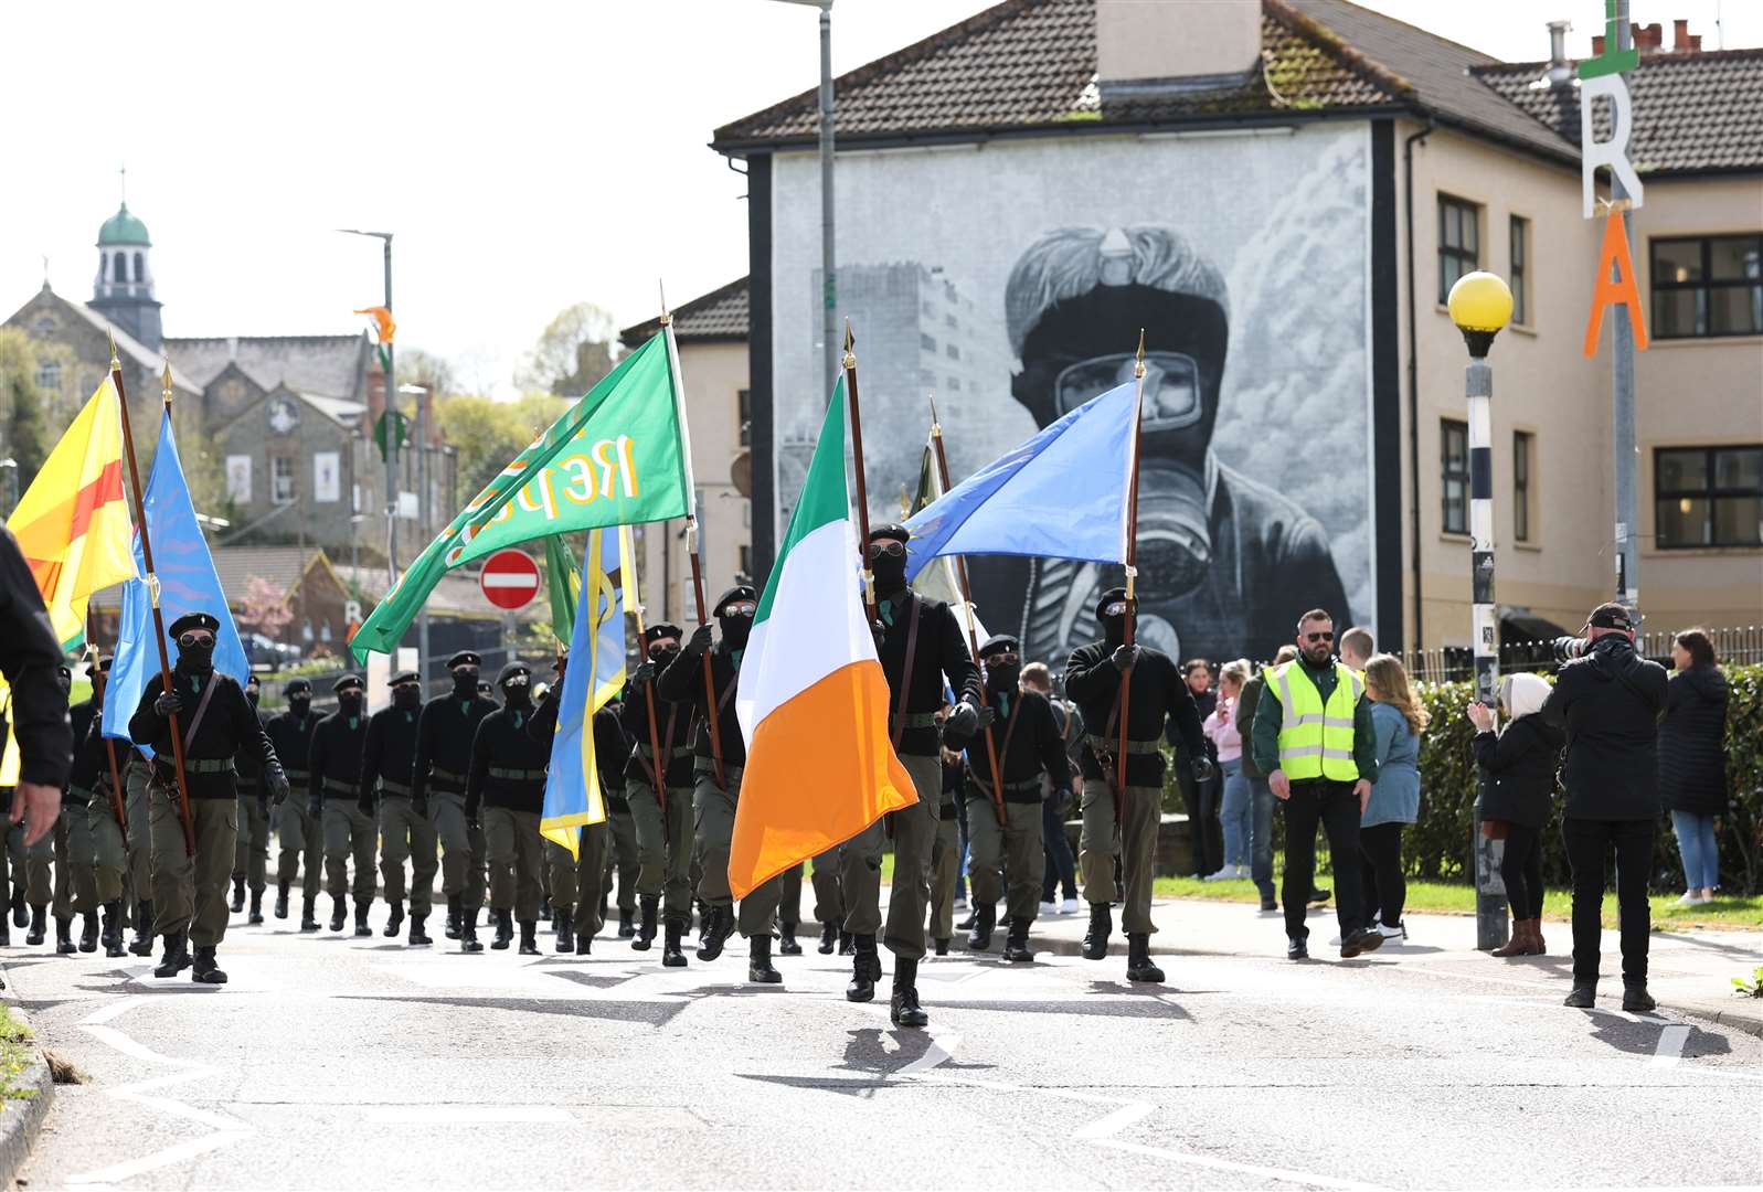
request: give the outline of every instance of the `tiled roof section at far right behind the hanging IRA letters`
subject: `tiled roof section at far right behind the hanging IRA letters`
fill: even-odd
[[[1474,76],[1580,146],[1580,88],[1530,85],[1546,62],[1477,67]],[[1634,97],[1629,160],[1638,173],[1763,169],[1763,49],[1641,55],[1627,76]],[[1599,136],[1608,116],[1597,109]]]

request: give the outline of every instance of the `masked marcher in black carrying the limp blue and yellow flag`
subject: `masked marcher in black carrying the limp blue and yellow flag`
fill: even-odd
[[[656,912],[665,917],[666,940],[661,965],[686,963],[681,936],[691,928],[691,845],[693,845],[693,753],[688,732],[691,709],[670,704],[656,691],[656,672],[666,670],[679,654],[681,631],[675,624],[643,630],[647,661],[631,674],[624,695],[624,735],[635,746],[624,767],[624,797],[636,827],[636,938],[631,947],[647,952],[656,938]],[[702,674],[702,670],[700,670]],[[656,758],[649,737],[649,698],[654,695],[656,735],[661,741],[661,790],[666,808],[656,802]]]

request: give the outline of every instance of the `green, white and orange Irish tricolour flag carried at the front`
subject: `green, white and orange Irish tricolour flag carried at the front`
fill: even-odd
[[[887,675],[857,557],[841,377],[740,663],[748,767],[728,850],[735,898],[917,802],[889,744]]]

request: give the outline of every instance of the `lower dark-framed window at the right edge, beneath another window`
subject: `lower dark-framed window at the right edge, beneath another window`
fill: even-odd
[[[1763,446],[1654,451],[1654,543],[1763,547]]]

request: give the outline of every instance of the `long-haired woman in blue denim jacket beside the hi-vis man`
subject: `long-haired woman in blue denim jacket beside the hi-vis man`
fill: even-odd
[[[1402,908],[1409,883],[1402,875],[1402,829],[1421,815],[1421,734],[1430,716],[1409,686],[1409,672],[1393,654],[1365,665],[1365,697],[1372,700],[1377,737],[1377,781],[1359,816],[1365,875],[1365,926],[1386,940],[1407,940]]]

